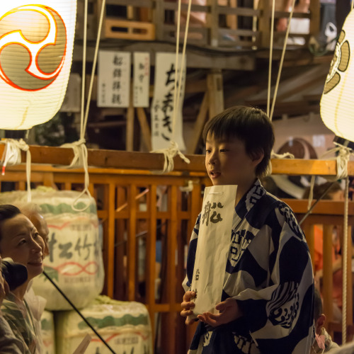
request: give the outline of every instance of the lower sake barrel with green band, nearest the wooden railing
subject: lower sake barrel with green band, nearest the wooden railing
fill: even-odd
[[[144,304],[109,299],[91,304],[81,313],[115,353],[153,353],[149,313]],[[57,354],[73,353],[86,334],[91,336],[86,353],[112,353],[74,311],[57,312],[55,330]]]

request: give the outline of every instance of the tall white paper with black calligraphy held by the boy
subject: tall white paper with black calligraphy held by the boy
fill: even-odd
[[[193,316],[216,313],[229,255],[230,236],[237,185],[214,185],[205,188],[198,233],[198,246],[191,290],[199,295],[193,301]]]

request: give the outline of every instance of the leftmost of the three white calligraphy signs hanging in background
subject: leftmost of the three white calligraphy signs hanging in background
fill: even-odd
[[[130,96],[130,53],[98,53],[98,107],[129,106]]]

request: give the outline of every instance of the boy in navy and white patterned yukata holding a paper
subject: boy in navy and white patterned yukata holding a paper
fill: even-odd
[[[270,164],[271,122],[262,110],[229,108],[207,122],[203,138],[212,184],[238,187],[219,314],[198,315],[190,353],[309,353],[314,324],[309,249],[290,207],[258,180]],[[188,316],[199,225],[200,215],[183,282],[186,324],[193,322]]]

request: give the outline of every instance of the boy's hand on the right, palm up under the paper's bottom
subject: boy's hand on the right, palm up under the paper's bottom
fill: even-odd
[[[228,324],[242,316],[239,305],[231,297],[223,302],[219,302],[215,309],[219,310],[220,313],[212,314],[211,312],[205,312],[204,314],[200,314],[198,319],[206,324],[210,324],[210,326],[216,327],[220,326],[220,324]]]

